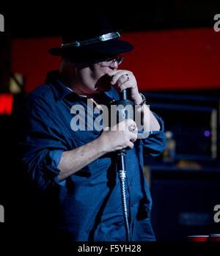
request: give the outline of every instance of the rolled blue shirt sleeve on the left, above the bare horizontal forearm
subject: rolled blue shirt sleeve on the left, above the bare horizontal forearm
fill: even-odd
[[[28,98],[23,113],[20,153],[25,172],[41,189],[64,186],[59,182],[59,161],[67,150],[65,139],[59,132],[59,120],[43,99]]]

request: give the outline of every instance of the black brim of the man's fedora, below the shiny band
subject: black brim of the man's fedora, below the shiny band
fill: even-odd
[[[133,50],[133,45],[123,40],[108,40],[105,42],[94,43],[91,45],[82,45],[71,48],[51,48],[48,52],[54,56],[66,56],[69,54],[77,54],[79,51],[92,51],[100,54],[123,54]]]

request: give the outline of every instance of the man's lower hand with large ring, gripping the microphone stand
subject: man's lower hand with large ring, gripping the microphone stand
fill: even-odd
[[[133,148],[133,143],[137,138],[137,128],[134,131],[129,131],[129,127],[132,127],[132,125],[136,127],[136,123],[128,119],[114,125],[112,128],[105,128],[100,135],[105,150],[112,152],[122,150],[125,147]]]

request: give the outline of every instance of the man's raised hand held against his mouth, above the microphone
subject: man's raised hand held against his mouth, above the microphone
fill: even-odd
[[[109,73],[109,76],[113,76],[110,83],[117,92],[122,92],[123,89],[131,88],[131,100],[133,100],[135,104],[142,102],[142,96],[139,94],[136,78],[131,71],[112,70]]]

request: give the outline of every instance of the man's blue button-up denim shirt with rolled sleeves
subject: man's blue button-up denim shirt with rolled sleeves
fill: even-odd
[[[103,97],[119,99],[113,87]],[[74,241],[125,241],[114,153],[92,161],[62,182],[58,180],[57,166],[62,152],[91,142],[101,133],[95,129],[73,131],[70,122],[74,114],[70,109],[76,103],[87,109],[87,99],[67,89],[57,71],[49,72],[45,84],[28,95],[26,129],[20,143],[24,168],[39,191],[47,191],[50,195],[47,205],[53,209],[52,225],[70,233]],[[155,117],[161,131],[152,131],[147,139],[137,139],[126,156],[126,194],[132,241],[155,240],[150,225],[152,201],[143,172],[144,157],[158,156],[165,146],[164,122],[157,115]]]

